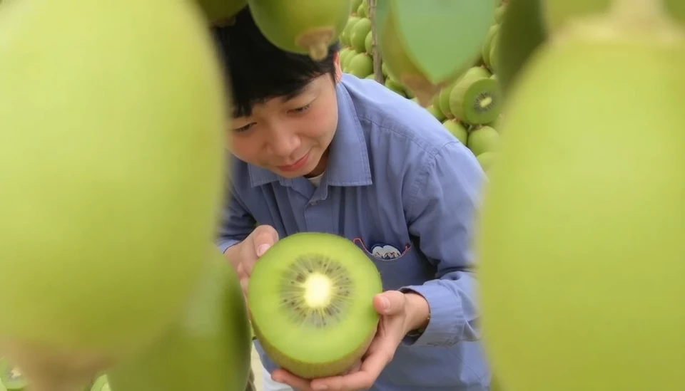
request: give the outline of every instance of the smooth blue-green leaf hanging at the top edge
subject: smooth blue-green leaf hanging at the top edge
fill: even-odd
[[[494,0],[380,0],[378,4],[391,1],[407,55],[432,83],[475,61],[494,20]]]

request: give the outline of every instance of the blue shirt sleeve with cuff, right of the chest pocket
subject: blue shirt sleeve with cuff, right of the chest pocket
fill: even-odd
[[[408,345],[452,346],[478,340],[477,282],[472,266],[472,230],[485,175],[479,163],[458,142],[427,155],[417,167],[406,217],[410,234],[437,267],[435,280],[400,291],[422,295],[430,307],[427,328]]]

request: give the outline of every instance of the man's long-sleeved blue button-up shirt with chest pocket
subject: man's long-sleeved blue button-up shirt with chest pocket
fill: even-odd
[[[281,238],[318,231],[355,241],[386,290],[410,288],[430,305],[425,332],[402,342],[371,390],[488,390],[470,249],[480,165],[427,110],[374,80],[343,75],[337,95],[338,129],[319,187],[232,158],[218,246],[245,239],[255,221]],[[388,259],[384,248],[400,254]]]

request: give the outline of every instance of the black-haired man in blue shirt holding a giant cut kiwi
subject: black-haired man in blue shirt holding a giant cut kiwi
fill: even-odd
[[[230,180],[216,245],[246,289],[255,262],[302,231],[344,236],[374,262],[380,325],[360,365],[305,380],[255,340],[266,390],[484,391],[470,241],[484,172],[417,103],[273,46],[248,8],[213,28],[230,80]],[[259,224],[258,226],[255,225]]]

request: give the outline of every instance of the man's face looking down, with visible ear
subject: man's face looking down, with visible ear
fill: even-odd
[[[338,58],[335,63],[340,80]],[[330,75],[321,75],[298,95],[266,100],[231,125],[229,150],[243,162],[286,178],[321,174],[338,127],[335,82]]]

